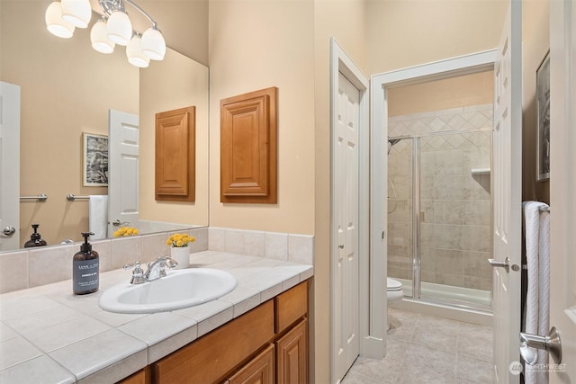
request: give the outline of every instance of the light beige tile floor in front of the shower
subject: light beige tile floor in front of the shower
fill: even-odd
[[[491,383],[490,326],[388,310],[386,357],[358,357],[342,384]]]

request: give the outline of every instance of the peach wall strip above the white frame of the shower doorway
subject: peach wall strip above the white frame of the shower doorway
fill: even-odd
[[[368,1],[369,73],[494,49],[506,11],[505,0]]]

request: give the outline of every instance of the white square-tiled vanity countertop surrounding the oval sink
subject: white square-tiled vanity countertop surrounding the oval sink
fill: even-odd
[[[155,314],[103,311],[104,290],[131,272],[100,274],[100,290],[72,294],[59,281],[0,295],[0,383],[121,380],[313,275],[308,264],[203,251],[191,266],[231,272],[238,287],[196,307]]]

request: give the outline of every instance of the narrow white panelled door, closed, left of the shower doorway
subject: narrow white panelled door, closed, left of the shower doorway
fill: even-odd
[[[334,218],[338,226],[338,265],[334,305],[336,379],[344,377],[360,351],[358,337],[358,198],[360,92],[342,73],[338,76],[338,121],[333,143],[336,166]]]

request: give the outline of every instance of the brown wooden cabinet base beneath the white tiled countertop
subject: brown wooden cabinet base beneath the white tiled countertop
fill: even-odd
[[[306,383],[307,317],[303,281],[121,383]]]

